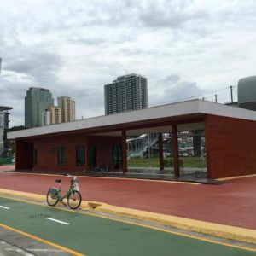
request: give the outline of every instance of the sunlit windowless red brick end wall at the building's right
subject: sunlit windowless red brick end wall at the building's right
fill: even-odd
[[[207,115],[208,177],[256,173],[256,122]]]

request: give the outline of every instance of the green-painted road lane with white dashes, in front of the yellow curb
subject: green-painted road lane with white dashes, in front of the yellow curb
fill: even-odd
[[[77,255],[256,255],[256,251],[178,236],[139,224],[3,197],[0,197],[1,225]]]

